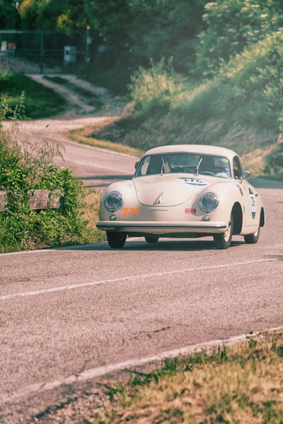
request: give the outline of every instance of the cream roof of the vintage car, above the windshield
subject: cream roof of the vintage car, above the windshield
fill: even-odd
[[[161,146],[151,148],[151,150],[144,153],[147,155],[157,155],[160,153],[201,153],[206,155],[219,155],[225,156],[229,160],[233,160],[234,156],[238,156],[237,153],[231,151],[229,148],[218,147],[218,146],[206,146],[203,144],[173,144],[171,146]]]

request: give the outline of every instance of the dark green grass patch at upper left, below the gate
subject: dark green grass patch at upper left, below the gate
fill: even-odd
[[[61,95],[50,88],[16,73],[0,72],[0,98],[8,93],[8,105],[13,109],[25,93],[25,116],[30,119],[52,117],[67,106]]]

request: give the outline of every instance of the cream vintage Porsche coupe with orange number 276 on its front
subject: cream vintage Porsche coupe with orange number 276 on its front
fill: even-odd
[[[247,179],[239,156],[216,146],[178,145],[153,148],[142,156],[131,180],[110,184],[100,201],[97,228],[108,244],[122,249],[127,236],[212,236],[218,249],[232,235],[258,242],[265,208]]]

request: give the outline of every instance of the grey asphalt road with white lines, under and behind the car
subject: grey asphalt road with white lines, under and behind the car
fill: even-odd
[[[65,148],[85,182],[131,175],[134,158]],[[281,326],[283,184],[256,185],[267,214],[258,245],[129,240],[122,251],[100,243],[0,255],[3,422],[66,399],[60,382],[96,367]]]

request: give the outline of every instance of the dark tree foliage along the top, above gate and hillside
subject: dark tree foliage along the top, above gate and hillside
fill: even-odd
[[[246,46],[283,30],[282,0],[19,1],[22,28],[90,26],[96,69],[116,74],[173,57],[175,70],[211,76]],[[15,4],[0,6],[2,26],[10,25]]]

